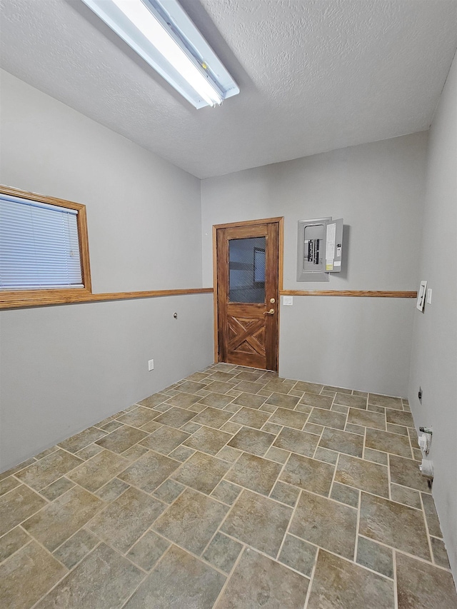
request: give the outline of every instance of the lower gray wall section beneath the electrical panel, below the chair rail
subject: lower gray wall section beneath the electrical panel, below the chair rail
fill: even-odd
[[[412,307],[403,298],[294,297],[281,307],[281,376],[406,396]]]

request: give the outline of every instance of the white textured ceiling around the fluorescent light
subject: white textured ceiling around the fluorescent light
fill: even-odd
[[[1,65],[199,178],[428,129],[456,0],[181,0],[241,93],[195,110],[79,0],[1,0]]]

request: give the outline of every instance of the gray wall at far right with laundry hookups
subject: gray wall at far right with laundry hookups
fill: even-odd
[[[430,130],[421,279],[431,305],[414,312],[409,400],[416,426],[433,427],[433,497],[457,582],[457,59]],[[431,253],[435,253],[431,255]],[[423,389],[422,404],[418,387]]]

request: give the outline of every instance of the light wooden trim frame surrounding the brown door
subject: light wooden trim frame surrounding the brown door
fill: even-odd
[[[250,226],[253,224],[278,223],[279,242],[278,242],[278,349],[276,351],[276,368],[279,370],[279,300],[283,289],[283,250],[284,250],[284,216],[278,218],[261,218],[259,220],[245,220],[241,222],[229,222],[226,224],[213,225],[213,300],[214,300],[214,363],[219,362],[219,311],[217,306],[217,231],[221,228],[238,228],[240,226]]]

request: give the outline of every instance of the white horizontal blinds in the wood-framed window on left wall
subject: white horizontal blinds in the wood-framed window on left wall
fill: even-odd
[[[0,289],[82,288],[75,209],[0,195]]]

